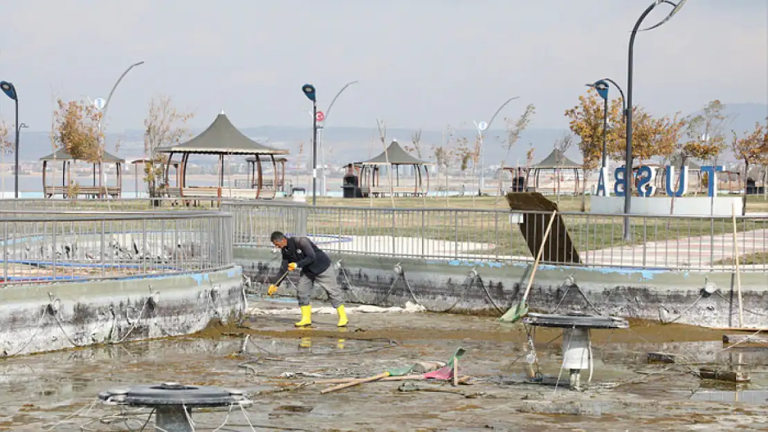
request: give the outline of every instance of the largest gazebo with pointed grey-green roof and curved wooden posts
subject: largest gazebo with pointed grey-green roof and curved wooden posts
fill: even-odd
[[[207,127],[200,135],[188,140],[186,143],[180,143],[174,146],[161,147],[156,151],[169,153],[168,160],[173,158],[174,154],[181,155],[181,176],[180,185],[177,188],[168,188],[170,196],[190,196],[190,197],[237,197],[237,198],[272,198],[277,192],[277,162],[276,155],[288,154],[288,150],[267,147],[246,137],[237,127],[234,127],[227,115],[221,112],[213,123]],[[189,157],[192,154],[213,154],[219,157],[219,181],[217,187],[187,186],[187,166]],[[254,164],[258,171],[259,179],[255,185],[246,189],[233,189],[231,186],[224,188],[224,157],[232,155],[252,156],[255,158]],[[271,162],[274,181],[271,188],[263,186],[263,167],[262,162]],[[168,183],[166,172],[166,183]],[[255,186],[255,188],[253,188]]]

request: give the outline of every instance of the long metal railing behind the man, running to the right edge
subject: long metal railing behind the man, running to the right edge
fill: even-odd
[[[234,216],[235,246],[271,248],[270,232],[278,230],[306,232],[329,252],[495,262],[533,261],[523,229],[528,238],[542,236],[551,217],[545,212],[255,202],[223,203],[222,210]],[[545,264],[731,272],[738,255],[743,271],[768,269],[766,216],[737,217],[734,247],[733,220],[727,216],[631,215],[632,239],[627,242],[624,215],[558,215],[570,245],[557,234],[560,227],[555,223],[545,246],[550,252],[545,253]]]

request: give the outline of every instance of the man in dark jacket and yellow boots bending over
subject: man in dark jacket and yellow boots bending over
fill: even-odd
[[[344,293],[339,288],[339,284],[336,283],[336,275],[333,274],[333,270],[328,271],[331,266],[331,259],[326,255],[326,252],[320,250],[312,240],[306,237],[288,238],[280,231],[273,232],[270,240],[283,253],[280,275],[285,272],[293,272],[296,268],[301,269],[299,285],[296,285],[301,308],[301,321],[296,323],[296,327],[306,327],[312,324],[310,295],[315,282],[326,290],[331,305],[339,312],[338,326],[345,327],[347,319],[344,310]],[[267,294],[273,295],[276,291],[277,286],[273,284],[270,285]]]

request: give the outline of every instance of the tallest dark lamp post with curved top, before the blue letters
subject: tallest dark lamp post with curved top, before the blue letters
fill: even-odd
[[[624,167],[626,167],[626,171],[624,173],[624,214],[628,215],[631,213],[632,207],[631,207],[631,198],[632,198],[632,72],[634,68],[634,38],[637,36],[637,31],[647,31],[647,30],[653,30],[654,28],[660,27],[661,25],[664,25],[667,21],[670,20],[677,12],[680,12],[680,8],[683,7],[687,0],[679,0],[677,3],[670,2],[669,0],[655,0],[651,5],[649,5],[642,15],[640,15],[640,18],[637,19],[637,22],[634,24],[634,28],[632,28],[632,34],[629,37],[629,64],[627,68],[627,153],[626,153],[626,159],[624,161]],[[673,9],[672,12],[670,12],[669,15],[667,15],[667,18],[664,18],[660,22],[658,22],[656,25],[653,25],[649,28],[644,28],[643,30],[640,30],[640,25],[642,24],[643,20],[650,14],[651,11],[656,8],[656,6],[661,5],[662,3],[666,3],[667,5],[672,5]],[[630,220],[629,216],[624,216],[624,239],[630,240],[631,239],[631,232],[630,232]]]

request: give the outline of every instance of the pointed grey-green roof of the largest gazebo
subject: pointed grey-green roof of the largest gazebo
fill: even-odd
[[[288,154],[288,150],[266,147],[243,135],[222,112],[202,134],[186,143],[161,147],[161,153],[201,154]]]

